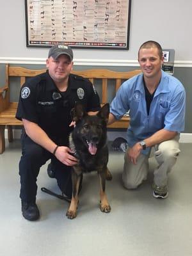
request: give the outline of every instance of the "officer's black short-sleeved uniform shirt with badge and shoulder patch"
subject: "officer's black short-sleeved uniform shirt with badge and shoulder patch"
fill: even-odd
[[[99,95],[92,83],[70,74],[66,92],[60,92],[48,72],[28,79],[20,90],[16,118],[38,124],[59,145],[67,145],[72,127],[70,111],[81,101],[86,111],[100,109]]]

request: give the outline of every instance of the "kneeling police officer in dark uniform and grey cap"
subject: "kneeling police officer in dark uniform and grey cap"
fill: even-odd
[[[72,131],[70,111],[81,101],[88,113],[100,109],[93,84],[70,74],[73,52],[64,44],[53,45],[46,60],[47,72],[32,77],[20,90],[16,118],[22,120],[22,156],[19,163],[22,215],[38,220],[36,178],[40,167],[51,159],[54,175],[62,193],[71,198],[71,168],[77,163],[68,148]]]

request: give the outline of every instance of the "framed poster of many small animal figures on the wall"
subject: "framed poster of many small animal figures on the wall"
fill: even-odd
[[[129,49],[131,0],[25,0],[28,47]]]

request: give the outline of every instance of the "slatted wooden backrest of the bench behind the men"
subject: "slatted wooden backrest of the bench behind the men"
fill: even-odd
[[[10,77],[20,77],[20,86],[25,83],[26,77],[33,77],[38,74],[42,74],[46,69],[33,70],[24,67],[11,67],[6,65],[6,86],[9,86]],[[108,86],[109,81],[115,80],[115,92],[118,90],[122,81],[127,80],[137,74],[140,74],[141,70],[133,70],[128,72],[116,72],[107,69],[90,69],[90,70],[79,70],[72,71],[72,74],[83,76],[88,78],[93,84],[95,79],[100,79],[102,84],[102,96],[100,99],[101,103],[108,102]]]

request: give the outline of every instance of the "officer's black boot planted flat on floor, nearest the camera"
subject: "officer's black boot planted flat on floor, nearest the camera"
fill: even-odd
[[[28,202],[21,201],[21,211],[22,211],[22,216],[24,216],[26,220],[33,221],[33,220],[38,220],[38,218],[40,218],[40,212],[35,203],[28,203]]]

